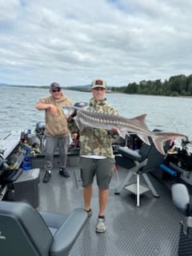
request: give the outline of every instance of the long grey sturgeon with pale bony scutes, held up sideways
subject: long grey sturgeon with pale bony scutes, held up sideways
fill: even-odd
[[[116,127],[119,136],[126,138],[126,134],[137,134],[143,142],[150,145],[148,137],[152,138],[154,146],[161,154],[165,154],[163,142],[173,140],[174,138],[187,138],[184,134],[174,132],[153,132],[146,126],[146,114],[135,118],[124,118],[114,114],[103,114],[96,111],[88,111],[76,106],[63,106],[62,110],[67,118],[74,116],[74,120],[79,130],[85,126],[93,128],[111,130]]]

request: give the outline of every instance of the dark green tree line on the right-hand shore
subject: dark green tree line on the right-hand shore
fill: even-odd
[[[192,74],[175,75],[165,80],[143,80],[139,83],[132,82],[127,86],[111,87],[110,90],[125,94],[149,94],[162,96],[192,96]]]

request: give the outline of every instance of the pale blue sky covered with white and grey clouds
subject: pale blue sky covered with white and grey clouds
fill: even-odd
[[[192,74],[191,0],[0,0],[0,82],[108,86]]]

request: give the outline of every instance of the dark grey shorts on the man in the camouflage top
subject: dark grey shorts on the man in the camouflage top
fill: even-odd
[[[82,186],[89,186],[97,178],[99,188],[109,189],[110,179],[114,173],[114,159],[80,158]]]

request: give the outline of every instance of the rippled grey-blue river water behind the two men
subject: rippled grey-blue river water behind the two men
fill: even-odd
[[[44,111],[34,107],[38,98],[49,95],[42,88],[1,86],[0,138],[12,130],[34,131],[36,122],[44,121]],[[64,90],[75,102],[89,102],[90,92]],[[106,94],[111,105],[125,118],[147,114],[146,124],[150,130],[160,129],[186,134],[192,139],[192,98],[174,98],[146,95]]]

